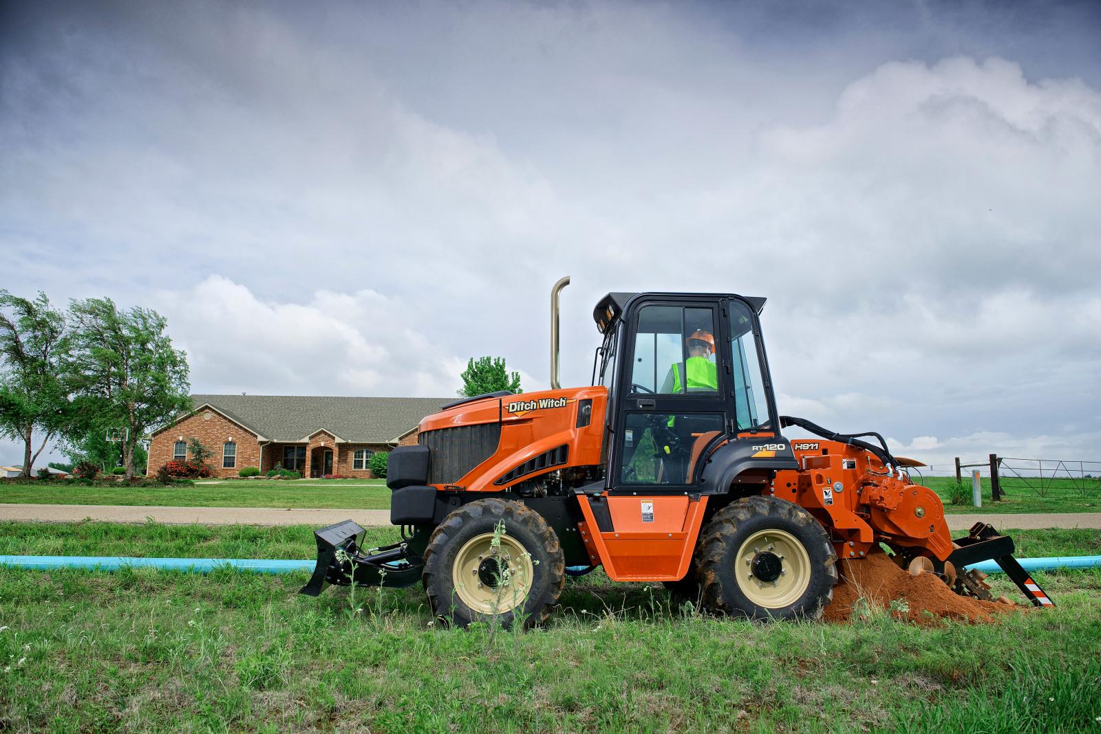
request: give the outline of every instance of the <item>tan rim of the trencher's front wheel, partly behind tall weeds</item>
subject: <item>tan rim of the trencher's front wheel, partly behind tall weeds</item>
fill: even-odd
[[[482,533],[467,541],[451,566],[455,592],[467,607],[483,614],[503,614],[524,603],[532,590],[535,566],[519,541]]]

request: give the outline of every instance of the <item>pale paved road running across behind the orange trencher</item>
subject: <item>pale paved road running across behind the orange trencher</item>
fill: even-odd
[[[75,522],[85,519],[143,523],[146,519],[170,525],[330,525],[355,520],[364,527],[390,524],[390,510],[280,510],[275,508],[170,508],[112,504],[0,504],[0,520]],[[977,522],[998,530],[1035,527],[1101,527],[1101,512],[1046,514],[947,515],[952,532]]]

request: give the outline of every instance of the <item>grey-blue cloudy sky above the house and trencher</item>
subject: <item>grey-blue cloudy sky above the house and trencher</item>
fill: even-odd
[[[764,296],[781,412],[1101,459],[1097,3],[0,7],[0,287],[197,392],[546,387],[570,275],[564,383],[607,291]]]

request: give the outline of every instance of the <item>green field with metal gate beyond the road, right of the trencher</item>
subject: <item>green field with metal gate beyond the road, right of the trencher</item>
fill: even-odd
[[[1101,482],[1087,485],[1084,491],[1075,486],[1068,479],[1047,480],[1050,487],[1046,490],[1046,496],[1040,497],[1036,491],[1018,483],[1020,480],[1006,480],[1003,478],[1001,486],[1003,491],[1002,501],[994,502],[991,499],[990,479],[980,478],[982,486],[982,508],[971,504],[970,478],[968,482],[967,504],[951,504],[948,488],[956,483],[956,477],[925,477],[924,480],[914,475],[914,481],[924,483],[929,489],[936,490],[945,503],[945,511],[951,514],[959,513],[1045,513],[1045,512],[1101,512]]]

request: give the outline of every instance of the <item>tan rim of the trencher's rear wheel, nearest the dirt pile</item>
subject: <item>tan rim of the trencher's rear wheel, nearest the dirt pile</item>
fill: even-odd
[[[738,548],[734,575],[751,602],[782,609],[795,603],[810,586],[810,556],[791,533],[762,530]]]

